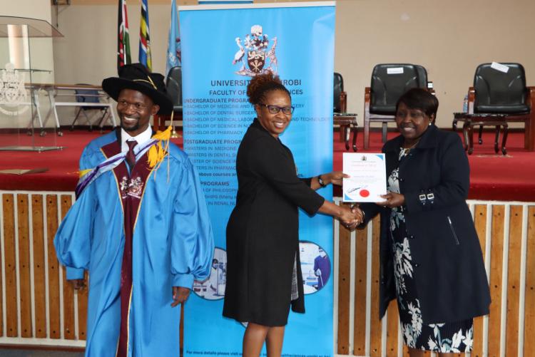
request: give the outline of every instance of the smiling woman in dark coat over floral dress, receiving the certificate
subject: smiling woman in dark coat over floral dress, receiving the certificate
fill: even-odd
[[[363,204],[381,214],[379,317],[397,299],[410,356],[472,350],[475,316],[489,313],[489,284],[467,203],[469,165],[457,133],[434,125],[439,102],[414,88],[399,98],[400,136],[384,144],[388,193]]]

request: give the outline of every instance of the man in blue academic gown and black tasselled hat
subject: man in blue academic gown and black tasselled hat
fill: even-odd
[[[86,356],[179,356],[175,306],[212,263],[203,190],[188,156],[149,125],[173,110],[163,76],[136,63],[102,86],[121,128],[83,150],[56,254],[75,289],[88,271]]]

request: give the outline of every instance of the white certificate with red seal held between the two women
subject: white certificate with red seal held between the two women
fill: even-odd
[[[382,202],[387,193],[387,166],[384,154],[344,152],[342,190],[344,202]]]

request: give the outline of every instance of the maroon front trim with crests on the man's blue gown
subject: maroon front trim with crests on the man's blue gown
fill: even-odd
[[[121,152],[121,142],[114,141],[105,145],[101,148],[101,151],[106,158],[112,157]],[[118,184],[119,195],[121,195],[121,204],[123,205],[125,234],[123,263],[121,265],[121,330],[117,344],[117,357],[128,356],[128,321],[132,298],[133,230],[136,226],[141,197],[143,197],[148,176],[151,175],[152,171],[151,167],[148,167],[146,153],[132,167],[130,174],[128,174],[126,165],[128,165],[126,161],[123,161],[113,169],[113,175],[115,175]]]

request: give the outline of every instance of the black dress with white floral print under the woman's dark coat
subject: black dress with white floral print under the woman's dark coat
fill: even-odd
[[[399,160],[403,160],[406,154],[407,151],[402,150]],[[398,169],[390,174],[388,186],[390,192],[399,193]],[[404,343],[410,348],[440,353],[472,351],[472,319],[446,324],[423,324],[402,207],[392,209],[390,233],[397,306]]]

